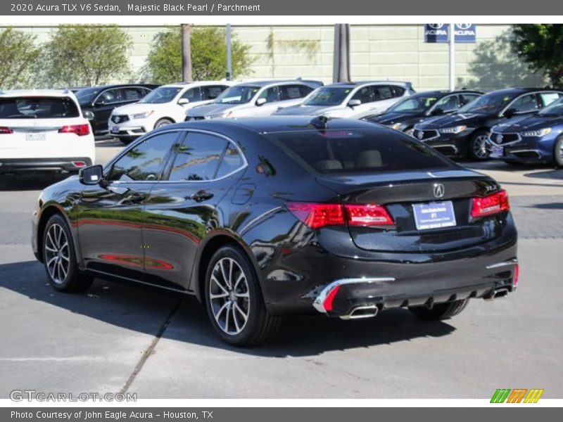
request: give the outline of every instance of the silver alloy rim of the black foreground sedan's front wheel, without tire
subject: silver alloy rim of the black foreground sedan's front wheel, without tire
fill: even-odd
[[[65,282],[70,268],[68,238],[63,227],[51,224],[45,238],[45,265],[49,276],[56,284]]]

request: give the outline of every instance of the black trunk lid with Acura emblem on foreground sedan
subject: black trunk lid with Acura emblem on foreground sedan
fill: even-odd
[[[317,182],[339,194],[342,203],[384,205],[396,223],[393,227],[348,226],[358,248],[380,252],[439,252],[467,248],[489,241],[498,229],[493,217],[472,222],[471,198],[496,191],[498,184],[470,170],[401,172],[400,174],[317,177]],[[436,198],[435,186],[443,186]],[[439,193],[439,192],[438,192]],[[417,229],[413,205],[451,203],[455,226]],[[449,205],[447,205],[449,207]]]

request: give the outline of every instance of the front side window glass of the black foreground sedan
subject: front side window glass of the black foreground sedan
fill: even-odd
[[[111,169],[110,181],[155,181],[160,177],[163,165],[178,132],[165,132],[151,136],[129,149]]]

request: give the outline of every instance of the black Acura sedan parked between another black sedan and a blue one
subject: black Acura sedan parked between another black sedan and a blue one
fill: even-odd
[[[429,117],[415,125],[412,136],[442,153],[473,160],[488,158],[486,141],[495,124],[519,115],[536,113],[563,96],[555,89],[514,88],[491,91],[441,117]]]

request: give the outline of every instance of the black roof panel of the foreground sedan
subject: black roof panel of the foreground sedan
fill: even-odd
[[[319,117],[311,116],[276,116],[272,117],[241,117],[233,119],[220,120],[196,120],[190,122],[181,122],[177,124],[169,124],[167,129],[208,129],[210,131],[228,134],[229,129],[239,127],[241,129],[249,129],[258,134],[271,134],[278,132],[299,132],[302,130],[313,130],[315,124],[319,124]],[[362,120],[328,118],[326,129],[374,129],[378,128],[369,122]],[[319,127],[317,127],[319,129]],[[325,129],[325,128],[321,128]],[[386,129],[386,128],[384,128]],[[160,130],[160,129],[156,129]],[[392,129],[389,129],[392,130]]]

